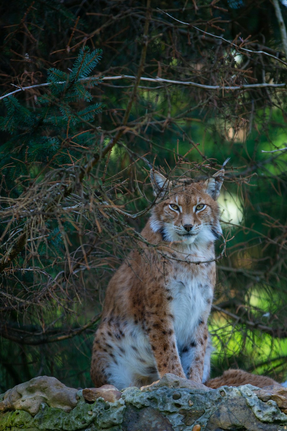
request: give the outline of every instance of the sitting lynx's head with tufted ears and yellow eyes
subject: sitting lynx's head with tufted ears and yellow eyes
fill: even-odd
[[[163,240],[181,244],[209,243],[222,234],[219,206],[216,202],[222,186],[224,169],[207,181],[172,184],[160,172],[151,169],[150,178],[158,202],[150,225]]]

